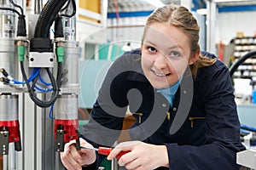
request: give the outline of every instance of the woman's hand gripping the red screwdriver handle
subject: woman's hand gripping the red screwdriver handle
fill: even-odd
[[[128,151],[119,158],[119,166],[132,170],[151,170],[157,167],[169,167],[166,145],[146,144],[139,141],[118,144],[109,154],[108,160],[113,159],[120,151]]]

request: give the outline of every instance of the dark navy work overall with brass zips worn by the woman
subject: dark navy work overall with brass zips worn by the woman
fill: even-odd
[[[129,105],[137,120],[131,139],[166,144],[169,169],[238,169],[236,152],[245,147],[228,68],[217,59],[214,65],[199,69],[196,77],[186,71],[170,106],[143,75],[140,58],[137,49],[116,59],[81,134],[95,146],[111,146],[119,137]],[[92,169],[102,159],[97,155],[96,163],[84,169]]]

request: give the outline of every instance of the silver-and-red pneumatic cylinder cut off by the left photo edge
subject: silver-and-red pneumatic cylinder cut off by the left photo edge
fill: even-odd
[[[0,154],[8,155],[9,143],[21,150],[20,124],[18,121],[18,95],[0,95]]]

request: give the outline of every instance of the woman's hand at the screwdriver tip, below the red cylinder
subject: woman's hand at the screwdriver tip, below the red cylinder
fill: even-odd
[[[84,139],[79,139],[80,144],[92,148],[93,146]],[[68,170],[82,169],[82,165],[90,165],[96,161],[94,150],[77,150],[76,141],[72,140],[65,144],[64,151],[61,152],[61,161]]]

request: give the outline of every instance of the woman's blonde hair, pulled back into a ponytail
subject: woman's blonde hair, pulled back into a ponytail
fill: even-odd
[[[198,26],[197,20],[195,19],[193,14],[189,12],[188,8],[170,4],[154,10],[154,13],[148,16],[148,20],[146,22],[146,26],[143,32],[142,43],[143,43],[145,34],[147,33],[147,30],[148,30],[147,27],[155,22],[157,23],[166,22],[170,24],[170,26],[172,25],[181,29],[189,37],[191,56],[193,56],[194,54],[198,53],[198,51],[200,51],[200,46],[199,46],[200,26]],[[215,62],[216,62],[216,59],[210,59],[200,54],[199,58],[195,61],[195,63],[193,65],[190,65],[190,70],[192,75],[196,76],[196,73],[199,68],[208,66],[208,65],[213,65]]]

